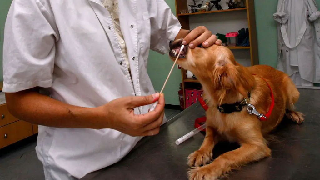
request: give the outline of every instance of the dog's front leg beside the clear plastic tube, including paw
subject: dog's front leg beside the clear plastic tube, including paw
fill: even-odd
[[[206,135],[200,149],[188,156],[188,165],[190,167],[205,165],[212,160],[212,150],[214,145],[219,141],[219,135],[210,126],[206,127],[205,133]]]

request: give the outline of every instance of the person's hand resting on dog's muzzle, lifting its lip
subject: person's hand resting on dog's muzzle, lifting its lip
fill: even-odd
[[[213,35],[204,26],[198,26],[197,28],[191,30],[189,34],[183,39],[183,45],[189,45],[191,49],[202,45],[204,48],[207,48],[211,45],[221,45],[222,41],[217,38],[216,35]]]

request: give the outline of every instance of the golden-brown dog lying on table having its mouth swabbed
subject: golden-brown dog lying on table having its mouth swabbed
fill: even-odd
[[[172,61],[181,45],[182,39],[170,42]],[[208,105],[204,141],[188,157],[189,179],[217,179],[232,169],[271,156],[266,139],[284,115],[297,124],[304,120],[294,107],[299,91],[285,73],[273,67],[244,67],[227,47],[218,45],[194,49],[186,46],[177,64],[200,81]],[[213,147],[219,141],[236,142],[240,148],[212,161]]]

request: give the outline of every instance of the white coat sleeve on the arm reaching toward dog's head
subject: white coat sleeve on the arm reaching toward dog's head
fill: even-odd
[[[170,40],[176,38],[181,25],[164,0],[149,0],[148,12],[151,26],[150,49],[165,54]]]

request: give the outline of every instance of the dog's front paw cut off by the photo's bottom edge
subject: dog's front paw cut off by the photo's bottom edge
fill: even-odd
[[[217,180],[218,176],[214,169],[208,166],[190,168],[188,171],[189,180]]]

